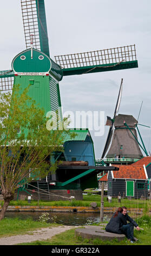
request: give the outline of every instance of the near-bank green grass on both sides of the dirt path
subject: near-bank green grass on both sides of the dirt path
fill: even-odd
[[[143,228],[143,230],[134,230],[134,236],[139,239],[139,241],[135,242],[134,244],[131,244],[126,238],[119,242],[117,239],[112,241],[103,241],[100,239],[83,239],[81,236],[76,237],[75,229],[77,227],[75,227],[61,234],[57,234],[48,240],[22,243],[20,245],[150,245],[150,216],[143,215],[142,217],[137,217],[135,221],[141,228]],[[33,231],[44,227],[51,228],[54,226],[58,226],[58,224],[41,223],[38,221],[32,221],[31,219],[21,220],[19,218],[4,218],[2,221],[0,221],[0,237],[28,234],[28,231]]]

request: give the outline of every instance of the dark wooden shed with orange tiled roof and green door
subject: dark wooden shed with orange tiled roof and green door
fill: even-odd
[[[140,198],[148,197],[148,175],[145,165],[114,165],[119,167],[118,172],[108,172],[108,196]]]

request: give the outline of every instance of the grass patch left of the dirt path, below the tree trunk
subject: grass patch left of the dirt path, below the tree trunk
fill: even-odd
[[[20,218],[4,218],[0,221],[0,237],[11,235],[23,235],[28,231],[33,231],[40,228],[56,227],[55,223],[41,223],[38,221],[21,220]]]

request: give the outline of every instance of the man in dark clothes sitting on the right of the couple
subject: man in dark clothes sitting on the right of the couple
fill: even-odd
[[[125,206],[122,207],[122,215],[121,215],[121,221],[122,221],[122,227],[120,228],[122,233],[126,235],[128,240],[130,242],[137,241],[136,237],[134,237],[134,227],[136,227],[137,230],[140,230],[139,225],[133,220],[133,218],[130,218],[127,214],[127,208]],[[127,224],[127,221],[129,223]]]

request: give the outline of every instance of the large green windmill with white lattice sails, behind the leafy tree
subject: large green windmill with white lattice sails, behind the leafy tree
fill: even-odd
[[[52,60],[49,53],[44,0],[21,0],[21,7],[26,49],[14,57],[10,70],[0,71],[0,90],[13,90],[14,84],[21,84],[22,89],[24,89],[31,84],[29,96],[45,110],[45,114],[49,111],[59,110],[60,115],[62,115],[59,82],[62,80],[63,76],[138,67],[135,45],[92,52],[66,54],[55,56],[54,60]],[[57,181],[62,182],[61,185],[58,185],[60,188],[57,189],[63,189],[65,187],[69,190],[71,187],[74,187],[70,186],[71,183],[80,179],[83,179],[83,181],[80,181],[83,182],[83,187],[87,187],[88,179],[86,182],[83,178],[85,177],[84,175],[89,176],[90,182],[92,180],[90,175],[95,172],[93,142],[87,130],[78,131],[77,137],[79,143],[85,142],[86,146],[83,147],[87,147],[88,142],[90,142],[93,161],[90,164],[90,160],[88,159],[88,162],[89,166],[93,166],[93,168],[88,170],[87,167],[81,167],[81,170],[77,173],[76,168],[74,172],[70,169],[68,172],[67,168],[62,167],[61,172],[57,174],[58,179],[55,174],[55,177],[51,177],[52,183],[56,184],[56,186]],[[72,158],[77,160],[77,155],[70,156],[73,152],[73,148],[77,151],[81,149],[81,155],[86,153],[86,151],[84,151],[85,148],[82,148],[81,144],[81,148],[77,147],[76,149],[77,144],[75,142],[75,146],[71,148],[71,143],[68,143],[68,141],[69,139],[67,139],[66,142],[68,161],[72,161]],[[86,154],[84,157],[84,161],[87,161]],[[97,170],[97,172],[100,171]],[[62,176],[59,176],[61,174]],[[68,181],[67,178],[65,178],[67,176]]]

